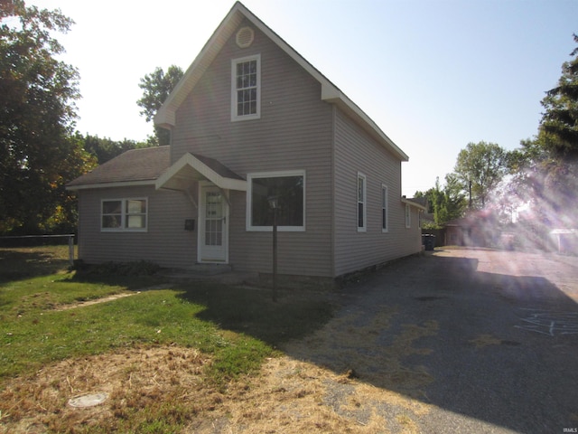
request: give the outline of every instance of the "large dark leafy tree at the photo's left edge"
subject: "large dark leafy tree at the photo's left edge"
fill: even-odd
[[[52,37],[73,22],[59,10],[0,2],[0,231],[42,230],[68,176],[90,165],[70,139],[78,71]]]

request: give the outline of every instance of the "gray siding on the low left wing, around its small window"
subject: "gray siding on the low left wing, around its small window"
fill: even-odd
[[[146,197],[146,232],[100,231],[102,199]],[[196,262],[197,232],[184,231],[196,210],[184,194],[155,191],[154,186],[79,192],[79,259],[87,263],[147,260],[162,267],[186,268]]]

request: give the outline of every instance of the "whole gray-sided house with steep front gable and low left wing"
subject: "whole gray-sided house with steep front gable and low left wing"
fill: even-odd
[[[131,150],[68,184],[79,259],[228,264],[337,278],[421,250],[401,197],[406,154],[330,80],[236,3]]]

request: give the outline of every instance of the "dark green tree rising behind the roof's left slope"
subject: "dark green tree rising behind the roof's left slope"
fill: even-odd
[[[142,108],[141,115],[146,118],[147,122],[154,119],[157,110],[161,108],[164,100],[167,99],[182,76],[182,69],[171,65],[166,73],[162,68],[156,68],[151,74],[146,74],[141,79],[138,87],[144,90],[144,93],[143,98],[136,101],[136,104]],[[154,135],[159,146],[169,145],[170,136],[166,129],[154,127]]]

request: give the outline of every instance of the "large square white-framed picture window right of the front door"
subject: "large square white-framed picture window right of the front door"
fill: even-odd
[[[277,203],[277,230],[305,230],[305,171],[267,172],[247,175],[247,231],[272,231]]]

